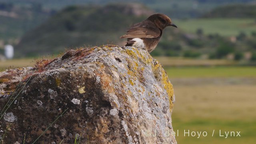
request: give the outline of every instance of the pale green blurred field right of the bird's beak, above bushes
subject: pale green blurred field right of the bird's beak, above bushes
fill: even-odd
[[[237,36],[240,32],[250,35],[256,31],[255,19],[241,18],[202,18],[189,20],[173,20],[173,22],[188,33],[196,33],[202,28],[204,34],[220,34],[221,36]]]

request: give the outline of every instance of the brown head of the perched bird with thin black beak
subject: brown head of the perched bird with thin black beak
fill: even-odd
[[[178,28],[175,24],[172,23],[172,20],[165,14],[152,14],[147,18],[147,20],[154,22],[154,24],[158,28],[160,28],[160,30],[163,30],[164,28],[166,28],[166,26],[174,26]]]

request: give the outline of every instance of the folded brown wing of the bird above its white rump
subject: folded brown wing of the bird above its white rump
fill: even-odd
[[[120,36],[120,38],[157,38],[160,34],[160,29],[154,24],[143,24],[140,22],[129,28],[126,34]]]

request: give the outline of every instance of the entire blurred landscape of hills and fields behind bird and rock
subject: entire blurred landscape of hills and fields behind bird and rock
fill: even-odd
[[[123,46],[125,30],[156,12],[178,26],[151,53],[174,85],[177,142],[254,144],[256,0],[0,0],[0,71],[70,48]]]

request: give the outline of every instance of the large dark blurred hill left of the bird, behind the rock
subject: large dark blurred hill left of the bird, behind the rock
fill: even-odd
[[[19,56],[57,54],[65,48],[120,44],[132,22],[140,22],[152,14],[137,5],[69,6],[47,22],[26,33],[16,46]]]

